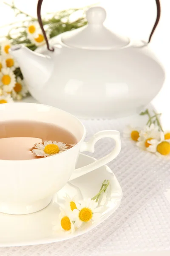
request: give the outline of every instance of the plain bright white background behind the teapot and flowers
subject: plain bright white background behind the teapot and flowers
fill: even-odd
[[[6,2],[11,3],[10,0]],[[15,0],[15,5],[36,17],[37,0]],[[82,7],[97,3],[94,0],[44,0],[42,15],[70,7]],[[155,0],[104,0],[98,5],[105,7],[107,19],[105,25],[114,32],[134,39],[147,40],[156,18]],[[0,26],[22,19],[14,17],[14,12],[0,0]],[[8,27],[0,28],[0,36],[8,32]],[[170,129],[170,0],[161,0],[161,19],[150,43],[151,48],[164,65],[166,81],[159,95],[153,100],[159,112],[162,112],[164,128]],[[154,85],[153,85],[154,90]],[[146,91],[147,94],[147,91]],[[138,256],[143,254],[138,253]],[[144,254],[147,256],[147,254]],[[169,252],[148,253],[148,256],[170,255]],[[131,254],[130,256],[136,256]]]

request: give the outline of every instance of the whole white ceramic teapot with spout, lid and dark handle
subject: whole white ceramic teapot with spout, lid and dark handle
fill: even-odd
[[[159,0],[157,19],[160,17]],[[133,42],[114,34],[103,22],[105,9],[87,11],[88,25],[64,32],[42,54],[22,45],[11,47],[31,95],[40,103],[81,118],[117,118],[139,113],[159,92],[164,70],[148,43]],[[149,42],[150,42],[149,39]]]

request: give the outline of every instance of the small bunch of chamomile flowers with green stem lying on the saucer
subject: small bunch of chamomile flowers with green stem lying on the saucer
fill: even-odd
[[[53,221],[53,230],[62,230],[64,232],[73,233],[80,226],[86,223],[92,223],[99,220],[102,216],[98,207],[99,198],[106,192],[109,186],[109,180],[104,180],[102,186],[93,198],[84,199],[81,201],[70,198],[68,195],[65,197],[65,207],[60,207],[60,214],[57,221]]]

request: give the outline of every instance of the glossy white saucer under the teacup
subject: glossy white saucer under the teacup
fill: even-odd
[[[94,162],[94,158],[80,154],[77,168]],[[65,193],[71,197],[92,198],[99,192],[103,180],[110,180],[106,195],[101,201],[102,217],[99,221],[86,224],[73,234],[53,231],[53,221],[59,215],[59,205],[63,204]],[[102,166],[71,183],[67,183],[54,195],[51,203],[39,212],[27,215],[8,215],[0,213],[0,247],[45,244],[71,239],[93,229],[108,218],[119,207],[122,199],[122,189],[113,172],[108,166]]]

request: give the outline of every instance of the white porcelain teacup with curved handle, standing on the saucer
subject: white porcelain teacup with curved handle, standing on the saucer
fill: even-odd
[[[54,107],[32,103],[0,104],[0,121],[9,120],[31,120],[58,125],[70,131],[78,143],[51,157],[0,160],[0,212],[27,214],[43,209],[68,180],[110,162],[121,149],[119,131],[100,131],[85,143],[86,132],[82,123],[71,114]],[[105,137],[111,137],[116,142],[111,153],[75,170],[79,153],[94,152],[96,141]]]

